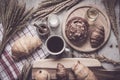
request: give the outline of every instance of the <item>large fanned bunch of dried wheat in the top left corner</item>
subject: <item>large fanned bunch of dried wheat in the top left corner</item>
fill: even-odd
[[[3,38],[0,43],[1,56],[7,42],[26,26],[32,15],[32,9],[26,10],[26,4],[20,4],[17,0],[0,0],[0,10],[3,26]]]

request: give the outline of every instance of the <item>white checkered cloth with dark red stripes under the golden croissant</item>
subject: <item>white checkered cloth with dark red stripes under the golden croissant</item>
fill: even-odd
[[[2,40],[2,33],[3,28],[0,24],[0,41]],[[34,61],[48,56],[44,45],[42,45],[41,49],[36,50],[30,57],[27,57],[19,62],[15,62],[11,57],[11,46],[15,40],[24,35],[37,35],[35,27],[29,25],[22,32],[18,32],[6,45],[2,57],[0,58],[0,80],[16,80],[20,75],[25,62]]]

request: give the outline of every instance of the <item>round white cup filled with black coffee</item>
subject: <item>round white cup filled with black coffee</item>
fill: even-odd
[[[48,37],[45,46],[51,55],[59,55],[65,50],[65,41],[61,36],[53,35]]]

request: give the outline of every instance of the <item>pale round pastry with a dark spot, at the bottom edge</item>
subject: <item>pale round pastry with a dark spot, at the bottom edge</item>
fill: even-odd
[[[50,74],[46,70],[38,70],[35,74],[35,80],[50,80]]]

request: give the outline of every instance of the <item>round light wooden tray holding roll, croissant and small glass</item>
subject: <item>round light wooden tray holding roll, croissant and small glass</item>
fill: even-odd
[[[70,20],[72,17],[85,17],[86,11],[94,6],[75,6],[73,7],[71,10],[69,10],[67,12],[67,14],[65,15],[65,21],[63,21],[63,26],[62,26],[62,33],[63,33],[63,37],[65,39],[65,41],[68,43],[68,45],[70,45],[73,49],[78,50],[80,52],[93,52],[96,51],[98,49],[100,49],[108,40],[109,36],[110,36],[110,31],[111,31],[111,27],[110,27],[110,21],[108,16],[106,15],[106,13],[104,11],[102,11],[100,8],[95,7],[99,10],[99,16],[97,18],[96,24],[97,25],[103,25],[104,29],[105,29],[105,39],[104,42],[97,48],[92,48],[90,45],[90,40],[87,39],[86,43],[84,43],[82,46],[75,46],[74,44],[72,44],[69,39],[66,37],[65,34],[65,25],[68,22],[68,20]],[[90,27],[92,28],[92,27]]]

